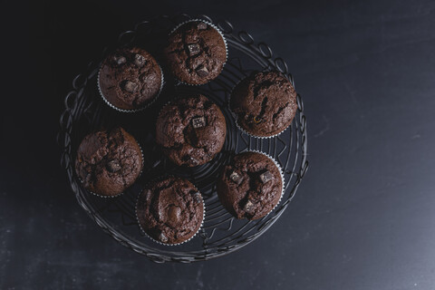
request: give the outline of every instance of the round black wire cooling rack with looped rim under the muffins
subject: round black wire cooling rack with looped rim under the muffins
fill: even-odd
[[[188,86],[170,79],[166,68],[165,86],[150,108],[136,113],[125,113],[111,109],[102,101],[97,89],[97,75],[105,55],[114,47],[137,44],[147,49],[161,64],[161,45],[170,30],[189,19],[203,19],[218,26],[225,35],[228,59],[218,78],[206,85]],[[152,40],[152,41],[151,41]],[[306,119],[301,96],[297,95],[298,110],[292,125],[282,134],[260,139],[240,131],[235,116],[228,109],[229,94],[233,87],[254,71],[279,71],[291,82],[285,61],[274,58],[266,43],[256,43],[244,31],[237,32],[227,21],[214,23],[208,16],[190,17],[187,14],[158,16],[136,24],[134,30],[122,33],[116,43],[106,47],[99,60],[88,65],[86,72],[73,80],[73,91],[65,99],[65,110],[60,123],[58,143],[62,149],[61,163],[66,169],[68,180],[80,206],[102,228],[125,247],[148,256],[154,262],[189,263],[224,256],[260,237],[279,218],[294,197],[308,168],[306,160]],[[154,121],[162,105],[174,96],[203,93],[216,102],[227,120],[227,137],[218,156],[196,168],[180,168],[173,165],[154,143]],[[100,198],[82,188],[74,171],[75,152],[82,138],[106,126],[121,125],[140,142],[145,166],[140,179],[117,198]],[[232,217],[220,204],[216,193],[216,180],[222,166],[231,157],[246,150],[259,150],[272,156],[282,167],[285,176],[285,193],[281,202],[265,218],[254,221]],[[203,195],[206,215],[203,227],[189,242],[179,246],[162,246],[140,231],[135,204],[143,185],[162,175],[177,175],[192,181]]]

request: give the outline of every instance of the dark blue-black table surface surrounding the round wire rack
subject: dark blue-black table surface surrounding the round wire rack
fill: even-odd
[[[1,289],[433,289],[435,3],[58,1],[5,5]],[[193,265],[150,262],[79,207],[55,135],[73,76],[155,14],[226,18],[295,75],[308,170],[264,236]]]

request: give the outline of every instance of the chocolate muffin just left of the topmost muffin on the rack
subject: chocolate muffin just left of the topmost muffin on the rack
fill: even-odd
[[[150,53],[139,47],[120,48],[103,61],[98,81],[111,106],[136,111],[159,95],[162,73]]]

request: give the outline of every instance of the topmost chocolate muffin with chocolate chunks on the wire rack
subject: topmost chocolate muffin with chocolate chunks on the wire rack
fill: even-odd
[[[214,26],[203,21],[180,24],[169,34],[165,56],[181,82],[204,84],[216,79],[227,62],[227,45]]]

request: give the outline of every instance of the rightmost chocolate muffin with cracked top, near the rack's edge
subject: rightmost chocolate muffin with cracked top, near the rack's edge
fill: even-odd
[[[282,73],[252,73],[234,88],[230,108],[243,130],[271,137],[285,131],[295,118],[295,88]]]

